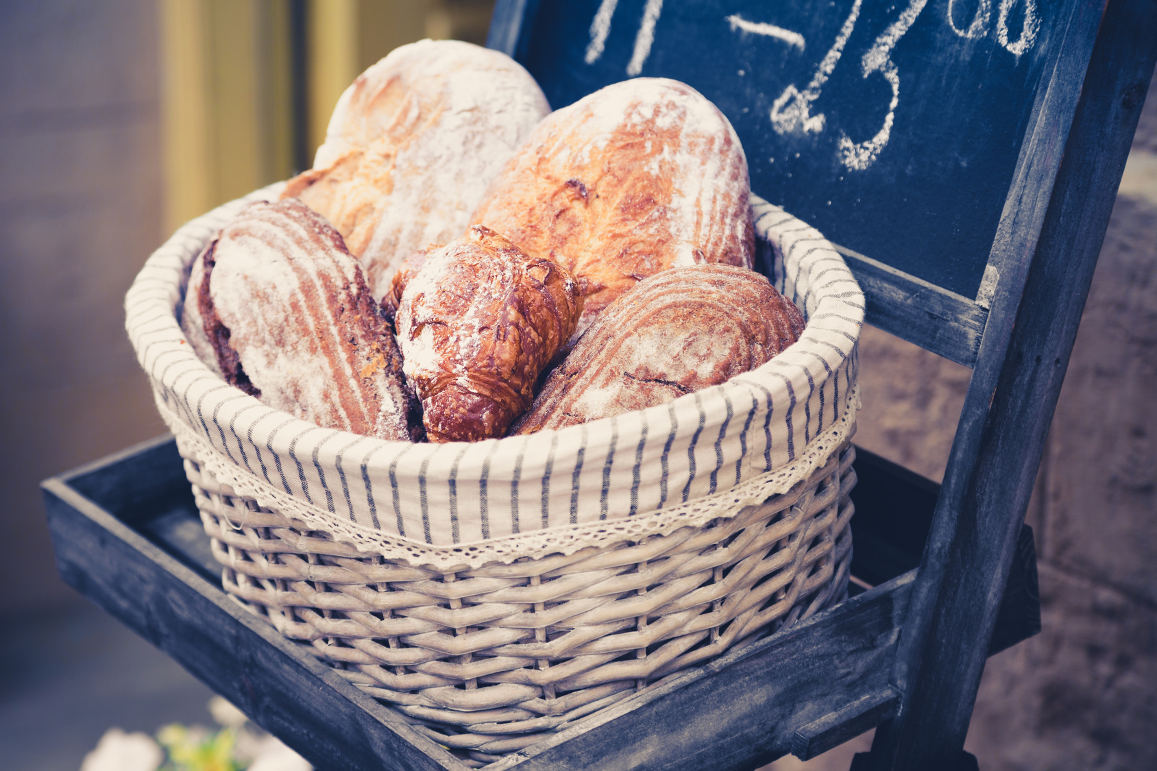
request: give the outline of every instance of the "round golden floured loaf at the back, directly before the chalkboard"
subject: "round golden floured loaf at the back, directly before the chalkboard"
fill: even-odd
[[[669,267],[751,267],[747,161],[697,90],[636,78],[544,119],[472,222],[585,281],[581,335],[635,282]]]

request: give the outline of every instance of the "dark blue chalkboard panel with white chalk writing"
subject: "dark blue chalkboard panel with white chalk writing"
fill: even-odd
[[[913,278],[901,294],[938,287],[951,307],[922,313],[963,326],[926,347],[971,364],[1045,52],[1068,19],[1054,5],[508,0],[491,45],[522,61],[555,109],[639,75],[690,83],[735,126],[754,192],[849,257]],[[871,309],[878,293],[864,288]]]

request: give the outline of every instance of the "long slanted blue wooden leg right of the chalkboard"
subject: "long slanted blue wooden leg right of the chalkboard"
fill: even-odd
[[[1078,34],[1069,41],[1096,35],[1096,44],[1091,59],[1085,49],[1056,61],[1062,76],[1082,76],[1063,68],[1089,61],[1068,137],[1063,126],[1030,126],[1034,152],[1055,163],[1063,148],[1063,160],[1039,242],[1002,234],[1010,257],[1024,247],[1034,257],[1024,279],[1002,281],[1024,292],[994,300],[897,656],[900,711],[877,729],[857,771],[968,762],[964,740],[1001,590],[1157,59],[1152,0],[1111,0],[1104,16],[1075,3],[1071,23],[1086,30],[1070,29]],[[1026,216],[1033,203],[1022,201]],[[1015,259],[1005,264],[1017,270]]]

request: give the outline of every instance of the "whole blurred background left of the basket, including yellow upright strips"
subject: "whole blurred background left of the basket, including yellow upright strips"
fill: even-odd
[[[492,5],[0,2],[0,610],[76,601],[38,482],[165,431],[121,311],[149,252],[309,168],[341,91],[396,46],[485,43]]]

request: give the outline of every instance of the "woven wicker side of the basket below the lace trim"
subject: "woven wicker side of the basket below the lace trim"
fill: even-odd
[[[185,470],[235,599],[484,765],[842,600],[854,455],[845,443],[732,519],[449,574],[367,557]]]

